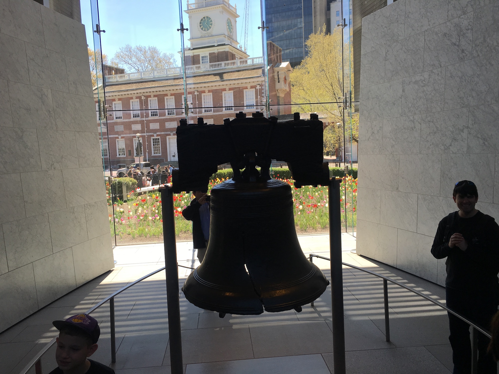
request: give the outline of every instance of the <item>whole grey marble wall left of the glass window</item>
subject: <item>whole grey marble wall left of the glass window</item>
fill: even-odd
[[[0,0],[0,332],[113,268],[85,27]]]

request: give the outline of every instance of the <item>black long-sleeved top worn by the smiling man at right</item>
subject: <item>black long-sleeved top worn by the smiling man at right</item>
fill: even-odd
[[[463,234],[468,248],[449,247],[451,236]],[[446,287],[470,292],[498,292],[499,226],[490,215],[479,211],[473,217],[449,214],[438,225],[432,250],[435,258],[445,258]]]

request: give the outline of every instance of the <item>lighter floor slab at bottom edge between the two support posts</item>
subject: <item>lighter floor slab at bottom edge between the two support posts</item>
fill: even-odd
[[[321,355],[189,364],[186,374],[330,374]]]

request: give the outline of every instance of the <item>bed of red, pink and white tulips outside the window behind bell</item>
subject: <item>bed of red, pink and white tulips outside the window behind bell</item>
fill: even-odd
[[[293,192],[294,221],[298,232],[326,231],[329,226],[328,195],[327,187],[304,186],[293,187],[293,181],[283,179],[282,181],[291,186]],[[224,179],[216,179],[210,182],[209,189],[224,182]],[[348,230],[355,230],[357,223],[357,179],[351,176],[343,178],[341,183],[341,219]],[[175,234],[180,236],[192,233],[191,221],[182,216],[182,209],[188,206],[192,194],[174,194],[175,207]],[[148,238],[158,241],[163,235],[163,214],[161,211],[161,195],[158,191],[147,193],[134,193],[126,202],[119,201],[109,205],[109,224],[111,233],[115,234],[117,241],[125,240],[140,241]],[[346,210],[346,212],[345,212]],[[142,239],[143,240],[143,239]]]

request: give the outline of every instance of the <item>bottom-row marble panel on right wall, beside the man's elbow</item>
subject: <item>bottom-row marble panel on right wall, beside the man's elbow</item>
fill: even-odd
[[[431,282],[437,282],[438,261],[431,253],[433,237],[398,230],[397,268]]]

